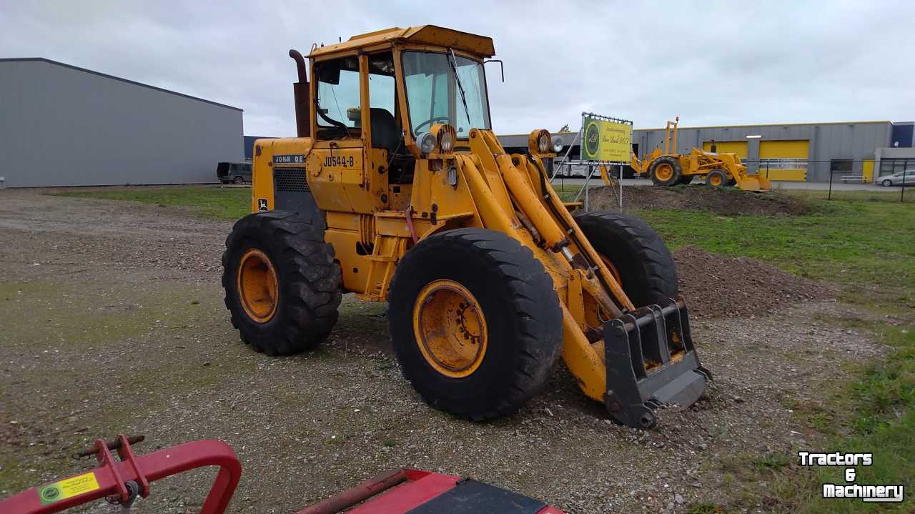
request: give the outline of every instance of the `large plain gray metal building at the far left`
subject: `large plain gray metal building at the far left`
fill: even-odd
[[[242,110],[48,59],[0,59],[6,187],[216,181]]]

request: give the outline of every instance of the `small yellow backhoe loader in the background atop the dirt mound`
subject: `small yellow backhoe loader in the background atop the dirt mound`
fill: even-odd
[[[711,152],[693,148],[689,154],[673,154],[677,149],[677,125],[680,118],[667,122],[664,129],[664,151],[655,148],[651,155],[641,159],[634,153],[630,156],[630,166],[640,177],[651,178],[655,186],[675,186],[689,184],[695,177],[705,180],[708,187],[740,187],[745,191],[769,191],[769,178],[747,172],[747,166],[740,162],[740,157],[732,153],[718,153],[713,142]]]

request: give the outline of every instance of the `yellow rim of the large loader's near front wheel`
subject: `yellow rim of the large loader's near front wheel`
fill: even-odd
[[[483,308],[455,281],[436,280],[419,292],[413,331],[425,361],[446,377],[473,374],[486,356],[489,337]]]

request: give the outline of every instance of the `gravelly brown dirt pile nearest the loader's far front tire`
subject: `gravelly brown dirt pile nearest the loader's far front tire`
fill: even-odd
[[[833,298],[835,291],[769,264],[705,252],[673,252],[689,312],[694,317],[778,314],[784,306]]]

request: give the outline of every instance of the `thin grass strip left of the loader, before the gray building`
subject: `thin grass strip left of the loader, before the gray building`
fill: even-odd
[[[54,191],[48,195],[128,200],[159,207],[186,207],[198,216],[223,220],[237,220],[251,213],[251,189],[247,187],[105,187]]]

